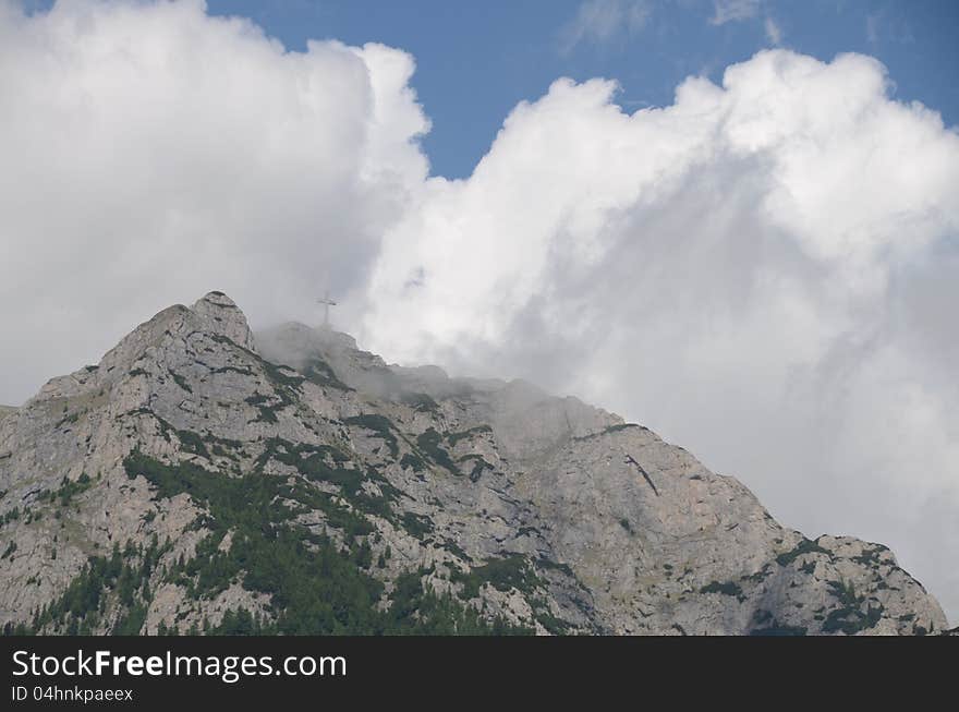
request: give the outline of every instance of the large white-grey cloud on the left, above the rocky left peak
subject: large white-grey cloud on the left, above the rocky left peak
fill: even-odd
[[[413,69],[198,1],[0,2],[0,402],[213,288],[266,321],[362,285],[428,172]]]

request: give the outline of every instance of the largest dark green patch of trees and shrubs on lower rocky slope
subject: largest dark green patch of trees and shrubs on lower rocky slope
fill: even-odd
[[[320,459],[311,459],[319,451],[303,448],[313,446],[277,443],[270,457],[291,462],[300,458],[304,469],[325,481],[345,476],[320,464]],[[238,632],[238,627],[264,635],[522,632],[424,589],[418,577],[414,582],[401,576],[389,607],[380,610],[377,602],[384,584],[367,572],[369,543],[360,541],[372,532],[368,521],[302,480],[291,482],[262,471],[230,478],[187,462],[166,466],[139,452],[126,458],[124,467],[131,478],[145,476],[160,496],[186,493],[209,512],[204,526],[211,533],[194,558],[171,568],[171,581],[184,586],[194,599],[213,598],[234,581],[269,596],[268,622],[236,612],[210,632]],[[341,484],[360,492],[355,482]],[[342,528],[345,544],[340,546],[295,521],[309,509],[325,511],[330,526]],[[228,533],[230,544],[222,546]]]

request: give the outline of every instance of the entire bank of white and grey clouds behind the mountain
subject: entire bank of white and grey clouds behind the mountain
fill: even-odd
[[[0,402],[209,289],[266,325],[329,288],[390,360],[580,395],[889,544],[955,619],[959,135],[873,59],[772,50],[635,113],[559,80],[428,179],[413,70],[199,2],[0,2]]]

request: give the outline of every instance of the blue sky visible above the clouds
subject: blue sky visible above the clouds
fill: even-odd
[[[424,147],[433,173],[449,178],[469,176],[509,110],[543,95],[555,79],[616,79],[622,85],[619,101],[629,111],[668,105],[689,74],[718,82],[728,64],[770,46],[767,19],[784,47],[822,60],[846,51],[878,58],[897,98],[937,109],[948,125],[959,122],[959,2],[952,0],[740,0],[726,3],[731,12],[725,16],[713,0],[607,0],[594,8],[618,8],[619,22],[605,28],[600,23],[598,33],[573,43],[584,5],[208,0],[211,14],[248,16],[290,49],[302,50],[308,38],[337,38],[411,52],[417,62],[413,85],[433,120]],[[630,14],[634,8],[638,15]]]

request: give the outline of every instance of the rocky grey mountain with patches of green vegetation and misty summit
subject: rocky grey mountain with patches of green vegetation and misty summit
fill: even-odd
[[[681,447],[210,292],[0,419],[8,632],[940,632]]]

